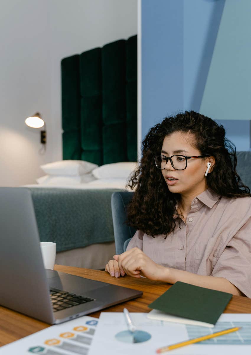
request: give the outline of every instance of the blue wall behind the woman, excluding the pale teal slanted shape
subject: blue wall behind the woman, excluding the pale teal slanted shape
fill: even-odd
[[[164,117],[200,110],[224,4],[142,0],[142,139]],[[249,150],[249,121],[217,122],[237,150]]]

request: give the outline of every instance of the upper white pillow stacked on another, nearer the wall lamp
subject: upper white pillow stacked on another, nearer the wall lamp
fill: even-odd
[[[90,173],[97,166],[97,164],[86,162],[85,160],[60,160],[41,165],[40,168],[49,175],[79,176]]]

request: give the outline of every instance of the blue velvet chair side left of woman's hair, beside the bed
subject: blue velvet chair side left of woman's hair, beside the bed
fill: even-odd
[[[116,253],[121,254],[135,234],[136,230],[128,226],[126,206],[132,200],[133,192],[119,191],[113,192],[111,198],[112,220],[115,237]]]

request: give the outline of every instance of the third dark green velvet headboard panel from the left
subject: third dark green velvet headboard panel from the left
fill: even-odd
[[[103,164],[127,161],[125,40],[102,48]]]

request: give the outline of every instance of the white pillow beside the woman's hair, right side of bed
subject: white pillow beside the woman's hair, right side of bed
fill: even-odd
[[[101,165],[92,171],[96,179],[128,179],[137,162],[120,162]]]

